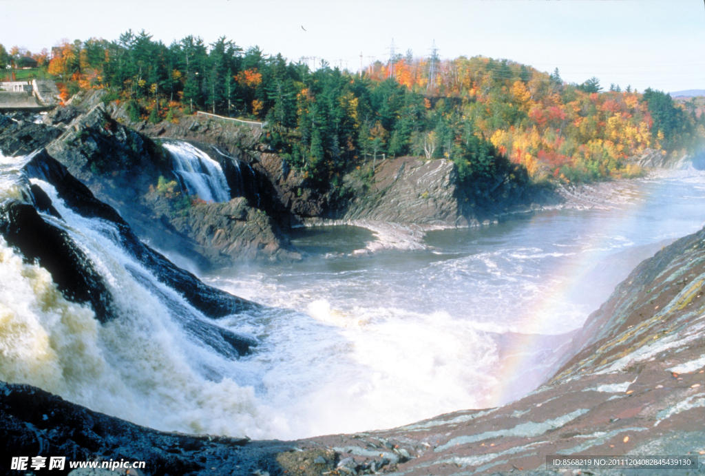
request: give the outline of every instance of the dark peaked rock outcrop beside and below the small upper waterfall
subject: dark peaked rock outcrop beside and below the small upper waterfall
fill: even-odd
[[[32,123],[25,116],[14,121],[14,116],[0,116],[0,121],[4,121],[0,124],[0,149],[8,155],[29,154],[37,147],[47,146],[52,157],[80,178],[100,200],[118,209],[143,239],[162,250],[190,257],[200,269],[250,259],[300,259],[275,221],[255,213],[254,208],[245,219],[233,222],[229,228],[218,224],[216,212],[204,215],[201,210],[190,215],[183,207],[175,211],[172,199],[149,193],[159,176],[171,176],[168,152],[118,123],[101,102],[87,112],[83,109],[86,104],[76,104],[52,111],[41,124]],[[247,205],[276,208],[268,205],[268,197],[273,195],[267,193],[269,182],[262,173],[258,175],[245,161],[215,146],[209,152],[221,162],[231,190],[247,197]],[[209,210],[216,208],[214,205]],[[198,218],[183,219],[182,215]],[[205,236],[204,230],[211,228],[227,230],[225,236],[237,238],[238,244],[245,244],[245,248],[240,252],[237,245],[225,243],[223,236],[216,240]]]

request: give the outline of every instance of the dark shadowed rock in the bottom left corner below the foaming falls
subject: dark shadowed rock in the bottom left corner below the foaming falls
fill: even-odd
[[[73,461],[145,461],[146,475],[277,474],[274,454],[290,445],[279,441],[157,432],[97,413],[28,385],[0,382],[0,463],[4,474],[11,456],[66,456],[64,470],[23,471],[23,475],[66,475]],[[243,446],[247,444],[247,451]],[[109,474],[125,475],[125,470]]]

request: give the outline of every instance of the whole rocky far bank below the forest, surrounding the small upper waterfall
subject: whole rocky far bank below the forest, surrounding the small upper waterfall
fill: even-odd
[[[82,92],[42,123],[26,114],[3,116],[0,149],[28,154],[47,147],[100,200],[118,209],[142,239],[189,257],[203,270],[252,260],[300,260],[302,254],[288,239],[292,226],[362,226],[377,239],[361,252],[414,250],[425,247],[424,233],[432,229],[484,226],[541,209],[608,208],[634,195],[623,181],[577,186],[500,182],[479,197],[460,184],[452,161],[418,157],[367,164],[324,193],[309,188],[300,171],[262,142],[258,126],[198,116],[178,123],[135,123],[124,103],[103,104],[103,94]],[[231,197],[242,200],[203,207],[179,196],[181,184],[158,188],[160,178],[166,184],[174,177],[173,159],[161,146],[169,140],[194,141],[219,162]],[[672,164],[653,150],[634,161],[644,167],[692,167],[687,159]]]

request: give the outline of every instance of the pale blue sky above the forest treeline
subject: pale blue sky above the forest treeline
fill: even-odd
[[[305,28],[305,31],[302,29]],[[0,0],[0,43],[30,51],[59,39],[117,39],[142,29],[169,44],[225,35],[288,59],[351,71],[398,51],[482,54],[644,90],[705,89],[703,0]],[[341,60],[341,61],[339,61]],[[312,62],[309,61],[312,66]]]

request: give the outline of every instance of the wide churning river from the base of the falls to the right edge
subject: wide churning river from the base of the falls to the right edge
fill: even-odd
[[[623,188],[623,203],[601,209],[431,231],[422,251],[360,255],[374,240],[363,228],[298,229],[293,241],[308,260],[204,279],[277,309],[232,325],[266,342],[250,358],[251,383],[284,434],[499,405],[550,376],[566,333],[639,262],[704,224],[700,173]]]

